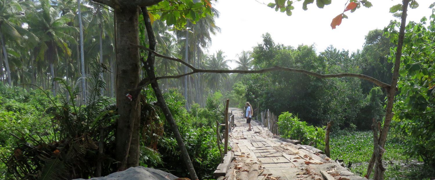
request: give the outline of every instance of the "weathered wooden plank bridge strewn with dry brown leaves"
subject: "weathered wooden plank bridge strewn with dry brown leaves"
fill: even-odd
[[[320,150],[278,139],[261,122],[251,121],[253,130],[247,131],[242,109],[229,110],[234,115],[228,135],[231,150],[214,172],[218,180],[367,180],[341,167]]]

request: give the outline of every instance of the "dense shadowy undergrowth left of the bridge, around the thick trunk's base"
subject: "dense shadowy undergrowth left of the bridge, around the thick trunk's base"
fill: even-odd
[[[62,80],[60,82],[64,83]],[[91,82],[102,83],[98,80]],[[97,84],[94,85],[96,91],[93,92],[100,92],[98,88],[104,87],[104,83]],[[179,166],[182,158],[173,132],[168,130],[170,128],[165,119],[160,118],[164,117],[161,111],[147,103],[155,100],[149,93],[150,90],[145,91],[144,95],[148,94],[147,100],[142,102],[141,134],[144,141],[141,146],[140,164],[168,170],[179,177],[187,177],[187,169]],[[72,99],[53,104],[47,94],[40,90],[27,92],[23,88],[7,85],[0,87],[0,94],[0,152],[5,155],[1,157],[0,177],[7,174],[8,168],[5,164],[8,164],[9,168],[20,167],[22,177],[30,174],[44,175],[52,179],[94,177],[95,167],[98,166],[97,157],[102,157],[103,175],[116,170],[116,164],[113,158],[110,158],[114,156],[113,135],[116,129],[116,109],[111,104],[112,100],[99,93],[91,93],[94,94],[94,98],[91,98],[94,101],[90,101],[87,106],[74,106]],[[74,96],[74,93],[70,95]],[[207,108],[197,109],[199,113],[193,114],[187,113],[183,108],[184,97],[177,90],[165,93],[168,106],[177,119],[180,133],[201,179],[211,178],[214,168],[220,162],[221,155],[217,148],[215,132],[216,122],[223,119],[220,97],[220,93],[215,93],[207,100]],[[100,130],[103,130],[104,134],[100,134]],[[9,133],[23,139],[14,138]],[[100,140],[103,140],[104,156],[98,153]],[[41,148],[35,151],[26,145]],[[33,153],[30,153],[31,151]],[[20,154],[18,157],[26,159],[24,162],[28,162],[24,163],[26,168],[21,168],[22,164],[16,164],[23,161],[13,160],[17,153]],[[47,167],[56,168],[49,170]],[[79,167],[80,169],[77,169]],[[75,175],[72,174],[73,171]],[[25,175],[26,172],[29,174]],[[18,177],[18,174],[14,176]]]

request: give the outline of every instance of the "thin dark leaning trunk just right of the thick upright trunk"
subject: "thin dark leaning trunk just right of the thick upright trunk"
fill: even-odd
[[[142,8],[142,14],[144,16],[145,28],[147,29],[150,48],[153,49],[154,51],[156,47],[156,40],[151,26],[151,20],[150,17],[148,16],[148,12],[146,8]],[[154,53],[150,52],[148,53],[147,61],[144,63],[145,70],[147,71],[148,78],[150,79],[156,78],[156,74],[154,72],[154,58],[155,58]],[[161,93],[161,90],[156,80],[152,81],[151,87],[153,88],[154,93],[157,97],[157,102],[158,102],[157,105],[162,109],[165,118],[167,119],[169,125],[171,126],[171,130],[174,132],[175,139],[177,140],[177,145],[180,148],[181,154],[184,159],[184,163],[186,164],[187,169],[189,170],[189,174],[191,175],[191,179],[197,180],[198,177],[195,173],[195,169],[193,167],[192,161],[189,157],[186,146],[184,145],[184,141],[181,138],[180,132],[178,132],[177,123],[175,122],[174,117],[172,117],[171,111],[167,107],[163,94]]]

